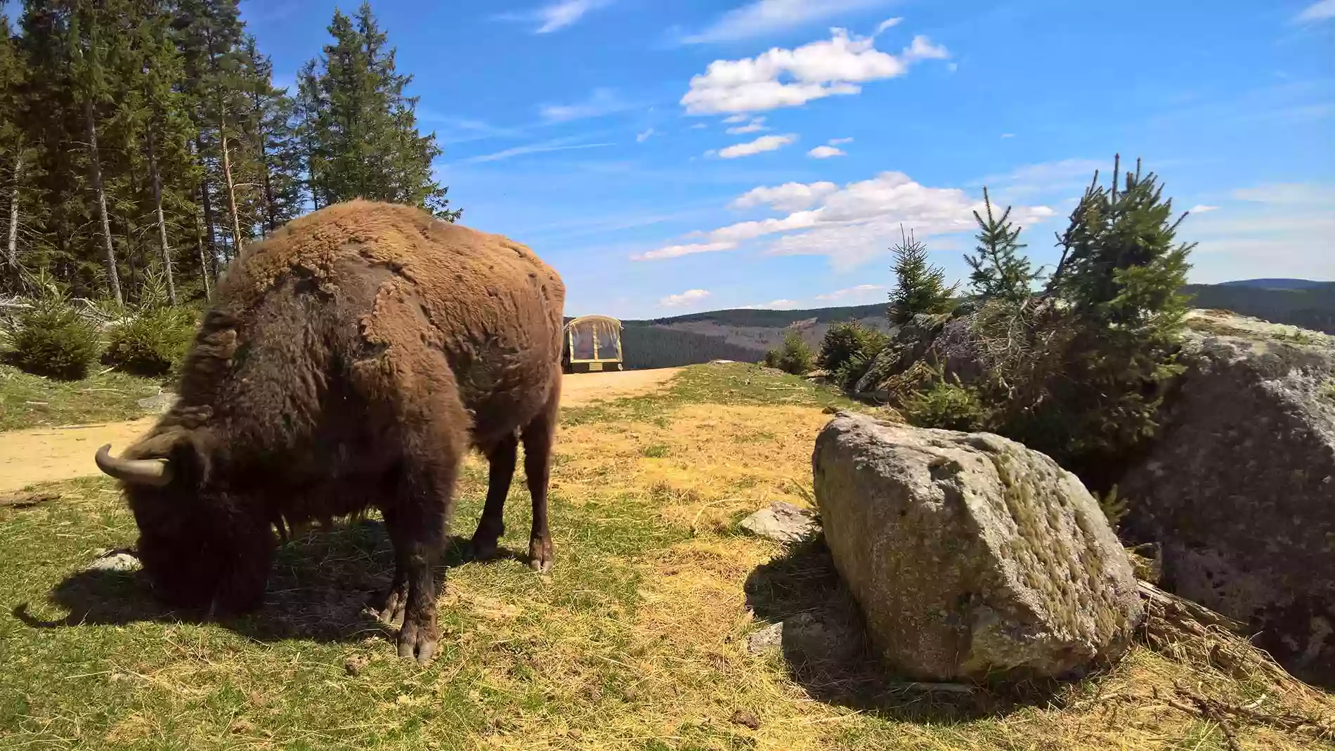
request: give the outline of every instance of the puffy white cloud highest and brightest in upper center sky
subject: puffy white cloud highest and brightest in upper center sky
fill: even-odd
[[[873,39],[849,37],[841,28],[832,32],[829,40],[796,49],[776,47],[756,57],[714,60],[690,79],[681,104],[692,115],[798,107],[826,96],[858,93],[864,83],[902,76],[910,63],[947,55],[925,36],[913,37],[896,57],[876,49]]]

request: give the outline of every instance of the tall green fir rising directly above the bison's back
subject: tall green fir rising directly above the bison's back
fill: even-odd
[[[335,11],[334,41],[303,72],[300,140],[316,205],[364,197],[426,208],[454,221],[447,188],[431,161],[441,155],[435,133],[417,128],[417,97],[405,95],[411,76],[395,69],[394,49],[363,3],[355,19]]]

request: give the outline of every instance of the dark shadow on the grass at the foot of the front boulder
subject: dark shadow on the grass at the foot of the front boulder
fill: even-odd
[[[820,702],[916,723],[996,718],[1057,702],[1057,682],[947,684],[926,691],[893,675],[880,663],[857,602],[820,532],[757,566],[745,591],[746,606],[769,624],[752,635],[752,651],[777,646],[792,679]]]

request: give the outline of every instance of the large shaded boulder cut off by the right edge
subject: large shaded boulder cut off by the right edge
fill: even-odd
[[[1163,586],[1335,679],[1335,339],[1192,311],[1160,439],[1119,484]]]

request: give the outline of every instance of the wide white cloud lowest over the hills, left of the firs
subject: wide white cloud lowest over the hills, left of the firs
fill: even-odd
[[[882,172],[869,180],[834,187],[830,183],[789,183],[756,188],[733,201],[737,207],[768,204],[785,216],[738,221],[704,232],[697,247],[730,251],[748,240],[772,237],[773,255],[824,255],[836,268],[853,268],[882,256],[898,239],[900,227],[918,237],[971,233],[973,211],[983,211],[981,195],[959,188],[921,185],[902,172]],[[1016,205],[1016,223],[1031,225],[1055,215],[1045,205]],[[670,253],[637,260],[672,257]]]

